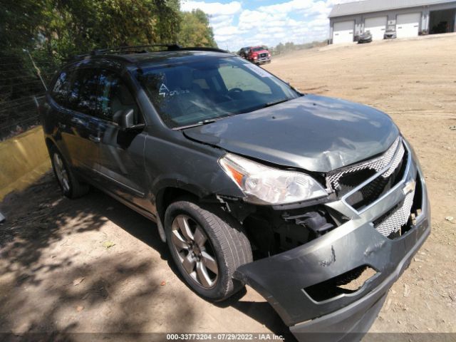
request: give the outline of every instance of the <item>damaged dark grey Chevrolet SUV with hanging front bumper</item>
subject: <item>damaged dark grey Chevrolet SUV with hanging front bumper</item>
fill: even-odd
[[[57,73],[40,112],[63,195],[93,185],[156,222],[204,299],[248,284],[298,339],[358,341],[430,234],[410,143],[374,108],[221,50],[165,48]]]

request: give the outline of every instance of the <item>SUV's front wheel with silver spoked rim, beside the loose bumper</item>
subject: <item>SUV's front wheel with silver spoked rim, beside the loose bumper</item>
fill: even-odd
[[[241,224],[221,208],[177,200],[166,209],[165,234],[177,269],[199,296],[223,301],[244,287],[232,276],[253,261],[252,248]]]

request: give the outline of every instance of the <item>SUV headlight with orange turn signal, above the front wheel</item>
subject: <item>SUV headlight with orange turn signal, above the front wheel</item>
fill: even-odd
[[[255,204],[288,204],[325,197],[328,192],[301,172],[284,171],[227,153],[219,160],[224,172]]]

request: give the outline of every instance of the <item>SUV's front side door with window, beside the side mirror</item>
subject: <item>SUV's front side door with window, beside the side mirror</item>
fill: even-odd
[[[150,209],[145,186],[145,133],[127,132],[119,125],[122,113],[129,109],[133,109],[135,124],[144,123],[125,79],[116,71],[101,69],[95,113],[99,137],[96,170],[103,188],[137,207]]]

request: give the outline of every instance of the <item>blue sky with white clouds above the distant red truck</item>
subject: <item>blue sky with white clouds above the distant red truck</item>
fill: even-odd
[[[329,38],[328,14],[346,0],[183,0],[182,10],[209,14],[220,48],[293,41],[308,43]]]

